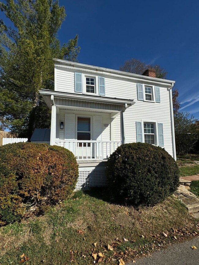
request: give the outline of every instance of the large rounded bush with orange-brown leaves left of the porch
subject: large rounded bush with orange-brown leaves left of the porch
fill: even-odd
[[[0,163],[2,223],[20,219],[30,206],[39,211],[67,199],[78,178],[73,153],[54,145],[22,142],[3,145],[0,147]]]

